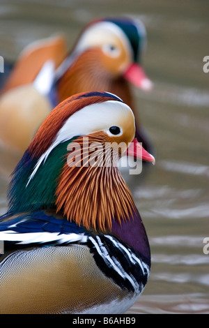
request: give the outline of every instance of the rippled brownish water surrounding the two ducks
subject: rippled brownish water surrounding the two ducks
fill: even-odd
[[[31,41],[59,31],[70,46],[84,24],[101,15],[131,14],[146,25],[144,66],[155,88],[134,94],[155,144],[156,165],[142,186],[132,181],[130,187],[150,240],[152,270],[127,313],[209,313],[209,254],[203,253],[209,237],[209,73],[203,73],[208,13],[203,0],[0,3],[0,54],[11,60]],[[1,155],[1,164],[3,214],[13,161]]]

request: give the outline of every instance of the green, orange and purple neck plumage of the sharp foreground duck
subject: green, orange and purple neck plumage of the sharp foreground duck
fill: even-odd
[[[81,147],[88,149],[82,141],[82,137],[76,139],[76,142],[81,142]],[[90,137],[88,142],[91,143]],[[52,150],[29,184],[36,159],[26,151],[10,184],[10,211],[55,209],[87,229],[116,235],[149,262],[146,230],[118,167],[69,167],[67,155],[63,156],[68,143],[63,142]],[[86,158],[84,149],[82,153]]]

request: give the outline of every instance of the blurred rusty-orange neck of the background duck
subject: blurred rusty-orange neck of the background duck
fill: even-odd
[[[73,56],[73,53],[72,53]],[[57,82],[59,101],[84,91],[108,91],[132,106],[130,86],[123,76],[114,76],[100,61],[100,50],[86,50],[70,64]]]

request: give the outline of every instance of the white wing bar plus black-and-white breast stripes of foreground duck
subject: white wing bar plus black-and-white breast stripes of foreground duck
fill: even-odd
[[[42,246],[61,246],[68,244],[83,244],[88,246],[100,270],[122,289],[142,292],[150,267],[140,256],[123,241],[108,234],[61,233],[61,232],[22,232],[13,230],[10,225],[7,231],[0,232],[0,239],[9,248],[28,248]],[[137,256],[138,255],[138,256]]]

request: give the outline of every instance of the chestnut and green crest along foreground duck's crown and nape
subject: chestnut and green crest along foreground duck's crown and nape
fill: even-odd
[[[55,192],[59,184],[59,176],[68,156],[68,144],[77,137],[74,134],[75,131],[73,133],[71,131],[71,128],[73,130],[74,126],[69,128],[68,125],[65,126],[65,122],[68,121],[72,114],[82,110],[83,107],[90,107],[90,105],[94,104],[102,105],[102,103],[107,101],[111,105],[116,103],[116,109],[118,108],[118,103],[121,103],[122,107],[130,114],[130,108],[127,108],[120,98],[107,92],[77,94],[64,100],[63,103],[54,108],[43,122],[36,137],[34,137],[22,160],[13,172],[13,179],[10,183],[8,194],[10,211],[20,213],[21,211],[36,211],[38,209],[55,207]],[[96,112],[98,113],[98,110]],[[130,115],[132,119],[132,114]],[[130,123],[130,125],[132,124]],[[62,128],[65,128],[64,133],[61,133]],[[124,133],[124,137],[131,139],[132,137],[130,137],[129,133],[130,128],[127,128],[127,133]],[[82,135],[82,132],[78,135]],[[121,140],[115,141],[119,143]],[[95,137],[93,142],[100,142],[100,138],[97,139]],[[86,149],[84,149],[84,153],[87,154]],[[88,156],[86,158],[84,156],[83,161],[84,166],[85,163],[88,164]],[[86,167],[84,167],[85,169]],[[79,174],[79,171],[77,171],[77,174]]]

